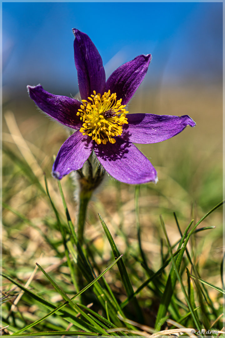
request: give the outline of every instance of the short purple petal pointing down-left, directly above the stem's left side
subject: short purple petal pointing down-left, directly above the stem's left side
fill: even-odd
[[[55,178],[61,179],[73,170],[83,167],[93,149],[93,142],[89,136],[75,131],[61,146],[52,167]]]

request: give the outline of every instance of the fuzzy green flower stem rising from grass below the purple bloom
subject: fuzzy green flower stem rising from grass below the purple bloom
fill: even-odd
[[[80,192],[79,196],[79,211],[78,211],[78,242],[80,246],[83,244],[84,225],[86,220],[86,212],[88,202],[91,198],[91,193]]]

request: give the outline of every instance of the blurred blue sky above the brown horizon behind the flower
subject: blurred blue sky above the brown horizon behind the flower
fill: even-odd
[[[151,53],[146,83],[222,79],[222,3],[2,5],[3,86],[12,93],[41,83],[55,94],[76,94],[72,28],[90,36],[108,76],[135,56]]]

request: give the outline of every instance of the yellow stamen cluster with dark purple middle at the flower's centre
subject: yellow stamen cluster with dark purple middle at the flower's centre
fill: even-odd
[[[116,93],[110,94],[110,90],[103,94],[96,94],[93,91],[88,100],[82,100],[77,116],[80,116],[83,125],[80,132],[88,135],[97,144],[106,142],[115,143],[114,136],[120,136],[123,132],[123,124],[128,123],[125,105],[121,105],[120,100],[116,100]]]

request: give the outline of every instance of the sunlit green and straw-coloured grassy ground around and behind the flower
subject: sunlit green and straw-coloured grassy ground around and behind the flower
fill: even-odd
[[[73,175],[61,181],[68,218],[51,176],[53,155],[67,130],[25,102],[25,114],[22,104],[18,108],[6,103],[3,273],[9,278],[3,278],[2,306],[3,327],[9,326],[5,333],[63,335],[68,330],[76,335],[83,330],[90,335],[111,330],[108,334],[143,335],[154,329],[178,332],[179,325],[222,329],[222,208],[202,220],[197,227],[201,231],[186,243],[188,251],[182,246],[185,237],[181,239],[189,223],[191,230],[222,200],[220,93],[199,88],[162,92],[158,100],[151,95],[143,100],[146,96],[139,92],[129,111],[188,114],[197,126],[165,142],[140,146],[158,171],[157,185],[145,184],[139,191],[106,177],[89,203],[83,251],[72,229],[77,223],[76,181]],[[74,302],[68,300],[119,254],[123,257],[118,265]],[[46,275],[35,269],[36,262]],[[82,279],[77,277],[81,274]],[[62,310],[48,315],[64,301],[68,304]]]

